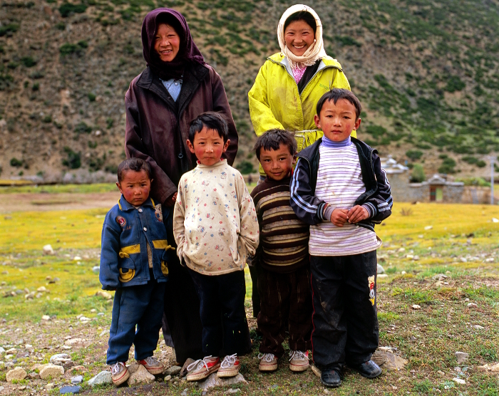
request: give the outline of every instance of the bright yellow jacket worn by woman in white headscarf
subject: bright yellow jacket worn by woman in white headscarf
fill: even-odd
[[[332,88],[350,90],[349,81],[336,59],[322,58],[317,72],[300,95],[287,58],[282,53],[274,53],[260,68],[248,93],[254,132],[259,136],[272,128],[291,130],[298,132],[298,151],[312,145],[323,135],[314,123],[317,102]],[[356,137],[355,131],[351,135]],[[264,174],[261,165],[259,172]]]

